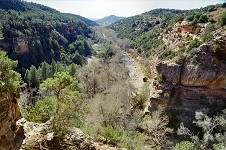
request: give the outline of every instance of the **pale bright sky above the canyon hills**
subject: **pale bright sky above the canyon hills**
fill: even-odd
[[[102,18],[108,15],[130,17],[156,8],[194,9],[226,0],[25,0],[43,4],[66,13],[86,18]]]

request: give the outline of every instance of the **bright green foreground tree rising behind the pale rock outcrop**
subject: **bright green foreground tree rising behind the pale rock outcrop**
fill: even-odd
[[[73,115],[78,117],[77,114],[82,110],[82,102],[78,98],[78,87],[77,80],[68,72],[58,72],[53,78],[48,78],[40,85],[42,90],[52,93],[50,98],[56,99],[53,127],[58,135],[70,123],[71,117]]]

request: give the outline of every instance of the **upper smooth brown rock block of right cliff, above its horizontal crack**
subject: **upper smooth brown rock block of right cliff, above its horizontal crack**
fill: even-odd
[[[199,59],[196,63],[190,60],[184,64],[161,62],[156,66],[156,70],[167,82],[189,87],[226,89],[226,65],[206,50],[205,46],[202,46],[196,54]]]

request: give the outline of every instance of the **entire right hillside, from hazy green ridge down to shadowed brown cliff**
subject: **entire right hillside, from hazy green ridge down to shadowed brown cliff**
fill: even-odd
[[[225,16],[225,5],[157,9],[108,26],[131,40],[128,52],[141,57],[155,80],[147,112],[162,106],[175,128],[191,123],[195,111],[208,108],[213,115],[226,108]]]

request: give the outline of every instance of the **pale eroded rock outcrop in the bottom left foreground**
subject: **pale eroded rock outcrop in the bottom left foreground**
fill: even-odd
[[[24,118],[17,121],[17,128],[24,130],[25,138],[20,150],[48,149],[48,150],[117,150],[105,144],[93,142],[79,128],[65,128],[66,135],[59,137],[52,130],[51,118],[46,123],[34,123]]]

